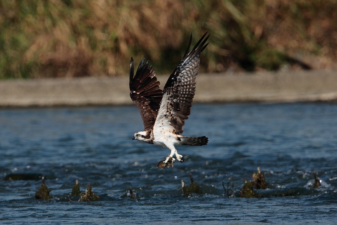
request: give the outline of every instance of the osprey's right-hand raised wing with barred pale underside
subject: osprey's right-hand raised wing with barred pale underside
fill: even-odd
[[[169,125],[174,127],[175,132],[183,133],[185,119],[188,119],[191,113],[200,54],[208,45],[208,43],[205,45],[209,37],[208,35],[205,38],[206,34],[207,32],[200,38],[192,50],[188,52],[192,41],[192,35],[190,35],[184,57],[168,78],[163,89],[163,97],[156,121],[159,126],[161,126],[160,124],[169,123]]]

